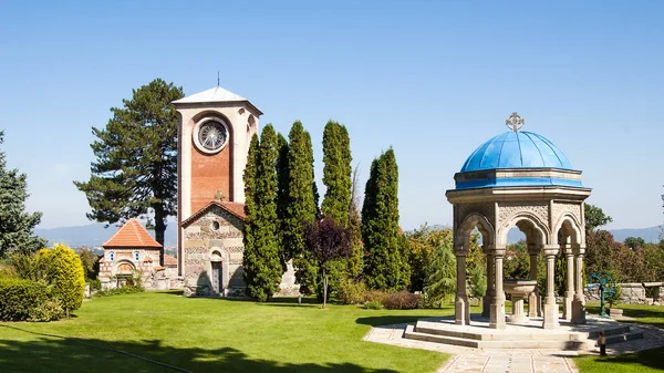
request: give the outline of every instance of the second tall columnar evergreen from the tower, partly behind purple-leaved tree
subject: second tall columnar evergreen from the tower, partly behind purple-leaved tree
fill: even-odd
[[[312,293],[318,288],[318,263],[314,256],[307,250],[303,227],[315,221],[318,191],[313,175],[311,136],[304,131],[302,123],[293,123],[289,142],[289,196],[283,219],[283,249],[293,258],[300,291]]]

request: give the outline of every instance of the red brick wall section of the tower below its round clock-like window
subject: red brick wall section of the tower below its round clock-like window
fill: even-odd
[[[215,199],[218,190],[224,200],[232,200],[231,138],[217,154],[205,154],[191,144],[191,214]]]

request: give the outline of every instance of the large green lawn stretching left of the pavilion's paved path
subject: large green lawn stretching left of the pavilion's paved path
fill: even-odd
[[[435,372],[448,355],[362,341],[372,325],[454,310],[187,299],[95,298],[52,323],[0,323],[2,372]],[[20,330],[19,330],[20,329]],[[32,333],[29,333],[32,332]],[[53,335],[72,338],[65,340]]]

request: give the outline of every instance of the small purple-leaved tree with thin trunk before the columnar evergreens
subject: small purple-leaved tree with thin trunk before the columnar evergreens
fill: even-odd
[[[339,258],[347,258],[352,252],[352,231],[332,217],[304,224],[307,249],[318,261],[319,273],[323,276],[323,309],[328,303],[328,263]]]

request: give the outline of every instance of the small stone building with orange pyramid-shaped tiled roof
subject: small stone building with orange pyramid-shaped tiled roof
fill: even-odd
[[[165,256],[168,267],[159,265],[163,247],[149,236],[137,219],[131,219],[102,245],[100,259],[102,289],[113,289],[141,276],[145,289],[169,289],[168,273],[177,274],[177,260]],[[166,258],[168,257],[168,258]]]

